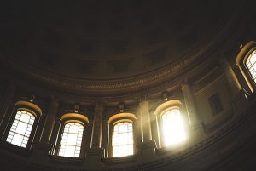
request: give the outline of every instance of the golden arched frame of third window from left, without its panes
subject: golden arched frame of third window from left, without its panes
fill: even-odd
[[[107,157],[113,157],[113,127],[118,123],[128,122],[132,123],[132,136],[133,136],[133,154],[137,153],[137,124],[136,124],[137,117],[133,113],[119,113],[115,114],[108,119],[108,151]],[[123,157],[130,157],[123,156]]]

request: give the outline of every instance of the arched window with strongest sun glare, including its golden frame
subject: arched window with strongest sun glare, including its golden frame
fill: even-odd
[[[186,141],[187,131],[181,108],[180,100],[169,100],[156,108],[160,146],[176,146]]]

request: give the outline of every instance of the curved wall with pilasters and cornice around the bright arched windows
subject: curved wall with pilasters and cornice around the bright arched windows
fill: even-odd
[[[146,80],[143,86],[135,83],[129,88],[117,88],[116,93],[114,86],[99,92],[90,88],[86,92],[83,86],[67,88],[65,77],[61,77],[63,82],[52,79],[54,85],[41,78],[32,79],[20,72],[24,69],[22,66],[14,68],[3,60],[0,64],[0,159],[3,170],[253,169],[256,158],[252,152],[256,142],[255,93],[236,65],[241,48],[255,40],[253,16],[253,12],[237,15],[236,24],[230,25],[236,29],[228,30],[232,32],[229,37],[220,34],[207,53],[196,51],[195,60],[184,60],[189,65],[177,65],[177,73],[165,72],[166,75],[160,75],[154,83],[143,76]],[[212,42],[209,40],[209,43]],[[25,149],[6,142],[17,101],[27,101],[42,111],[31,143]],[[160,106],[164,106],[163,109],[172,107],[173,101],[179,101],[189,136],[182,145],[165,147],[157,115]],[[32,105],[28,107],[33,110]],[[85,121],[79,158],[56,155],[61,122],[67,113],[68,118]],[[113,123],[109,118],[119,113],[121,117],[115,119],[129,118],[134,123],[135,154],[129,157],[111,157],[109,152]]]

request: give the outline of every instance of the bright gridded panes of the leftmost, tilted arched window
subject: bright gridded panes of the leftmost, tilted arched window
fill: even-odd
[[[26,148],[34,121],[35,117],[30,112],[17,111],[6,141]]]

